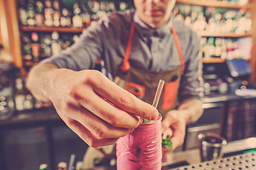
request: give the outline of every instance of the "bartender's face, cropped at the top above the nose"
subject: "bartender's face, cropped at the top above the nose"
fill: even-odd
[[[151,28],[161,28],[171,16],[176,0],[134,0],[139,18]]]

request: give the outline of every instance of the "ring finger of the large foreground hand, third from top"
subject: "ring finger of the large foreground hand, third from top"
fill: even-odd
[[[110,123],[105,122],[101,118],[97,117],[90,111],[83,107],[78,107],[70,104],[69,112],[73,113],[72,118],[77,120],[82,124],[87,130],[89,130],[93,135],[101,138],[117,138],[123,137],[128,133],[132,132],[134,129],[128,128],[116,128]]]

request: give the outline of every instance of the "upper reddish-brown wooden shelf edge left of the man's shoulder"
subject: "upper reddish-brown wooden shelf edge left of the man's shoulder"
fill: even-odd
[[[28,27],[21,26],[21,30],[24,32],[53,32],[58,31],[59,33],[82,33],[85,28],[66,28],[66,27]]]

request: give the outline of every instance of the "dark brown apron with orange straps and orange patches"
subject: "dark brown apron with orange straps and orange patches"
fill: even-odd
[[[171,26],[176,47],[178,48],[181,66],[161,72],[152,72],[149,70],[131,67],[129,65],[129,55],[132,49],[134,25],[134,22],[132,22],[129,32],[129,40],[124,53],[124,60],[120,67],[120,71],[117,73],[117,76],[114,77],[114,83],[121,86],[123,89],[126,89],[131,94],[134,94],[134,96],[137,96],[137,98],[141,99],[142,101],[152,104],[154,95],[156,93],[156,88],[159,84],[159,79],[163,79],[165,84],[157,109],[164,117],[168,111],[176,108],[179,81],[181,80],[181,75],[183,74],[184,70],[181,45],[179,43],[176,31],[174,30],[174,26]]]

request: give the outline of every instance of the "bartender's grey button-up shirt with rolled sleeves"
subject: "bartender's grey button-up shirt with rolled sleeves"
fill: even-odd
[[[93,69],[96,60],[105,62],[107,73],[115,77],[124,58],[132,21],[135,30],[129,62],[133,67],[151,71],[164,71],[181,65],[171,26],[174,25],[184,58],[184,74],[178,93],[179,101],[203,96],[200,38],[183,22],[171,18],[158,30],[149,28],[134,10],[113,13],[82,31],[80,39],[59,55],[43,62],[76,71]]]

